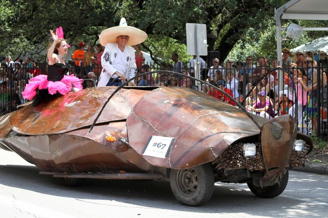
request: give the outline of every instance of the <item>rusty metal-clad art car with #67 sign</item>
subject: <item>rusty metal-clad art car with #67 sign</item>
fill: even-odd
[[[0,128],[1,148],[64,185],[169,180],[188,206],[210,200],[215,182],[247,183],[258,197],[277,197],[289,167],[302,166],[313,147],[289,115],[266,120],[179,87],[70,92],[4,115]]]

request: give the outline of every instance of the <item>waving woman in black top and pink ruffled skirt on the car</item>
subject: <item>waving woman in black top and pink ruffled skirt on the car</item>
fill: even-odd
[[[66,76],[69,68],[66,66],[64,56],[67,54],[65,39],[58,39],[57,33],[50,30],[53,43],[48,49],[48,75],[38,75],[31,78],[23,92],[23,97],[33,100],[33,105],[55,97],[65,95],[71,90],[82,90],[81,81],[73,75]],[[75,87],[75,89],[74,89]]]

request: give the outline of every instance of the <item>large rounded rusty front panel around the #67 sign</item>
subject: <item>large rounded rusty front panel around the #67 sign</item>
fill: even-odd
[[[232,142],[260,132],[238,108],[179,88],[149,92],[133,107],[127,126],[130,145],[140,155],[151,136],[175,138],[167,158],[143,157],[156,166],[181,169],[213,161]]]

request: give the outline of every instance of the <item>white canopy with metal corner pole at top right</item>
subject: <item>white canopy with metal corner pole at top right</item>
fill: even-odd
[[[327,0],[291,0],[275,11],[277,27],[277,59],[281,63],[281,20],[282,19],[308,19],[308,20],[328,20]],[[328,27],[303,28],[304,31],[324,30]],[[282,80],[282,77],[281,77]],[[282,85],[282,81],[279,81]]]

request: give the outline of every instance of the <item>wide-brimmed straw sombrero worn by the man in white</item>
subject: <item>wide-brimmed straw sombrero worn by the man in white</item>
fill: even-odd
[[[108,28],[100,33],[99,42],[102,46],[106,46],[106,43],[117,42],[116,37],[120,35],[129,36],[127,46],[138,45],[147,39],[147,33],[138,28],[128,26],[127,21],[122,17],[119,21],[119,26]]]

